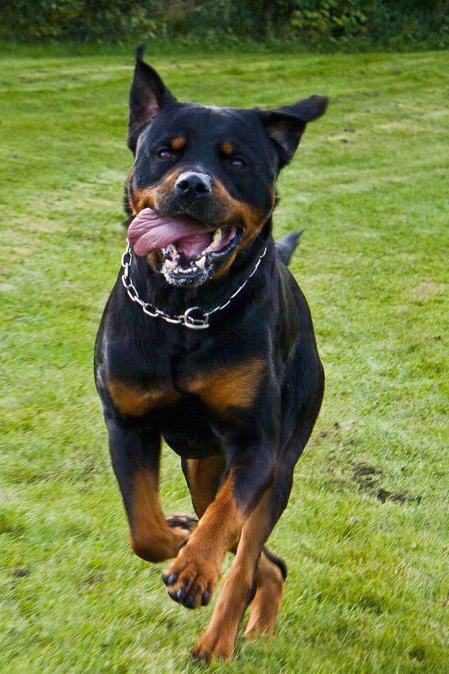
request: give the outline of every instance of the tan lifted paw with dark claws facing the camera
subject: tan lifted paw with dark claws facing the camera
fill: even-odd
[[[196,550],[187,539],[186,545],[163,571],[162,580],[173,601],[187,609],[196,609],[210,602],[219,574],[220,564],[211,555]]]

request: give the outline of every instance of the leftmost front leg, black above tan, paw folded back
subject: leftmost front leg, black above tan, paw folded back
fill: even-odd
[[[130,544],[147,562],[177,555],[196,525],[189,517],[164,517],[159,504],[161,437],[145,422],[106,416],[109,449],[130,527]],[[172,526],[169,526],[171,524]]]

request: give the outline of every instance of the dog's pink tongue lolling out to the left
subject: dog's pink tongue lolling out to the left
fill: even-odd
[[[176,242],[177,250],[192,258],[208,247],[210,231],[194,220],[161,218],[152,209],[143,209],[128,227],[128,239],[138,256],[145,257]]]

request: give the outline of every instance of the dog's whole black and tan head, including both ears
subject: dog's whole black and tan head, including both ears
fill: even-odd
[[[323,96],[276,110],[179,103],[138,50],[127,190],[135,252],[177,286],[225,274],[268,222],[279,171],[326,104]]]

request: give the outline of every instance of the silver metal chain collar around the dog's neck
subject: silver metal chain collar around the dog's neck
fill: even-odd
[[[248,277],[246,277],[245,281],[243,281],[241,286],[239,286],[239,288],[236,289],[235,293],[233,293],[224,304],[220,304],[217,307],[214,307],[213,309],[203,310],[201,309],[201,307],[189,307],[188,309],[185,310],[183,314],[179,314],[177,316],[170,316],[170,314],[167,314],[165,311],[158,309],[152,303],[144,302],[139,297],[139,293],[135,285],[133,284],[133,280],[131,279],[129,273],[130,263],[131,260],[133,259],[133,253],[131,251],[129,241],[128,245],[126,246],[126,251],[121,256],[121,266],[123,268],[123,274],[121,275],[121,282],[123,283],[123,286],[125,286],[126,292],[128,293],[130,299],[133,300],[133,302],[138,303],[138,305],[140,305],[140,307],[142,308],[144,314],[147,314],[147,316],[151,318],[161,318],[163,321],[166,321],[167,323],[184,325],[186,328],[190,328],[191,330],[204,330],[209,327],[209,316],[215,314],[215,312],[217,311],[225,309],[225,307],[227,307],[227,305],[234,299],[234,297],[236,297],[236,295],[238,295],[239,292],[243,290],[243,288],[248,283],[249,279],[255,275],[255,272],[257,272],[257,269],[259,268],[259,265],[262,262],[262,258],[264,258],[265,256],[265,253],[267,253],[266,246],[264,248],[264,251],[262,252],[262,255],[255,263],[253,271],[250,273]]]

